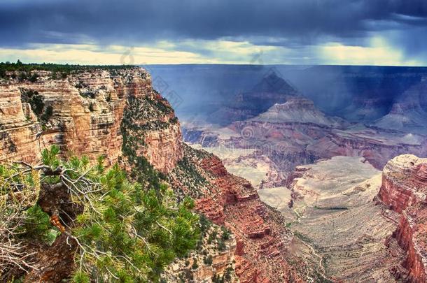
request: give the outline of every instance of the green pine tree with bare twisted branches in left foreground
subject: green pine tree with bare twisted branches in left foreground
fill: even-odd
[[[176,257],[186,256],[200,238],[193,201],[180,204],[165,184],[147,189],[127,180],[118,166],[105,170],[102,159],[57,158],[43,151],[43,164],[0,166],[0,278],[34,268],[27,245],[52,242],[57,233],[78,247],[73,282],[153,282]],[[38,206],[39,196],[64,187],[76,217],[58,207]],[[57,198],[57,195],[50,196]],[[64,204],[66,205],[66,204]],[[46,212],[52,212],[50,221]],[[56,228],[55,228],[56,227]],[[38,266],[43,263],[38,263]]]

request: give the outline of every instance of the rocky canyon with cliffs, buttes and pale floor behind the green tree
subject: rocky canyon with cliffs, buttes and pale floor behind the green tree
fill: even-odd
[[[262,109],[233,106],[226,127],[183,129],[188,144],[143,68],[33,72],[35,82],[0,83],[0,161],[37,164],[59,145],[141,184],[162,175],[211,223],[188,259],[167,266],[168,282],[426,281],[427,161],[395,157],[426,156],[423,134],[330,116],[271,74],[243,96],[267,95]]]

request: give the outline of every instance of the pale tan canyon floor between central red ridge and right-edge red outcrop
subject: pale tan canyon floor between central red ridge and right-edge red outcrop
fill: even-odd
[[[268,173],[263,162],[232,164],[248,150],[206,148],[225,160],[231,172],[260,184]],[[297,166],[288,187],[259,189],[260,199],[280,210],[295,238],[288,249],[330,280],[395,282],[389,270],[404,259],[395,231],[398,214],[373,201],[381,171],[363,157],[332,157]],[[290,205],[292,204],[292,205]],[[292,206],[292,207],[290,207]],[[388,242],[388,247],[385,243]]]

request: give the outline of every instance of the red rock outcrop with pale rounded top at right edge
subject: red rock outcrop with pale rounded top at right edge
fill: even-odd
[[[401,213],[395,237],[407,252],[408,282],[427,281],[427,159],[406,154],[384,168],[379,198]]]

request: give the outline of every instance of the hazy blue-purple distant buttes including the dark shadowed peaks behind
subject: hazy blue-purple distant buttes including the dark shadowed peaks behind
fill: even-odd
[[[411,83],[388,101],[389,113],[354,122],[325,113],[307,94],[271,71],[251,91],[243,92],[228,106],[220,106],[219,112],[205,120],[197,123],[184,119],[183,137],[211,152],[218,152],[218,148],[225,152],[246,151],[240,156],[228,154],[223,161],[233,172],[244,174],[242,177],[248,176],[245,171],[253,172],[255,168],[265,172],[265,177],[253,182],[258,188],[283,186],[295,166],[340,155],[364,157],[382,169],[399,154],[427,156],[427,103],[423,95],[426,80],[421,74]],[[354,99],[359,96],[355,94]],[[376,105],[386,104],[371,102],[358,103],[352,113],[379,113]],[[245,111],[250,113],[242,116]],[[233,112],[239,115],[233,117]],[[221,119],[218,117],[228,124],[217,122],[215,119]]]

